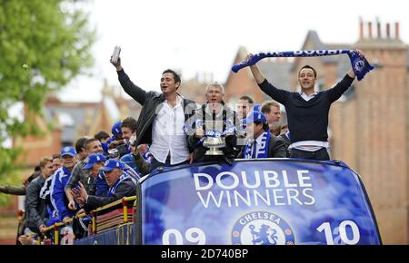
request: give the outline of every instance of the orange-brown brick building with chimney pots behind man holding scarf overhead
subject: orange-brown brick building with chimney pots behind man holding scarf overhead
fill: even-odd
[[[375,28],[373,28],[375,25]],[[353,86],[332,105],[330,143],[333,159],[345,161],[364,180],[385,244],[409,242],[409,49],[399,37],[399,24],[360,22],[354,44],[324,44],[314,31],[308,32],[301,50],[361,49],[376,67],[364,81]],[[247,52],[241,47],[237,63]],[[293,61],[263,60],[258,63],[275,86],[294,91],[296,75],[304,64],[317,75],[316,89],[334,86],[350,69],[346,55]],[[271,100],[260,91],[249,68],[230,73],[225,83],[226,101],[243,94],[255,102]],[[284,110],[284,107],[283,107]]]

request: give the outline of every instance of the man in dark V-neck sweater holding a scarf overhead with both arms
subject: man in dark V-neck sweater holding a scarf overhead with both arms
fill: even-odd
[[[364,53],[357,50],[360,56]],[[246,59],[251,59],[253,54],[248,54]],[[328,113],[331,104],[337,101],[354,82],[355,73],[352,69],[337,83],[334,88],[316,92],[314,91],[317,73],[310,65],[304,65],[298,72],[300,93],[291,93],[277,89],[269,83],[256,64],[250,66],[255,82],[261,90],[280,102],[287,113],[288,128],[291,132],[292,158],[308,160],[330,160],[327,148],[328,142]]]

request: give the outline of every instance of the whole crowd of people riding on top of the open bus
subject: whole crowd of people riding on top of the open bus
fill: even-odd
[[[274,87],[254,64],[254,80],[276,102],[255,104],[244,95],[234,111],[224,102],[220,83],[207,85],[206,102],[198,105],[177,93],[181,78],[173,70],[162,73],[161,93],[146,92],[130,80],[120,58],[113,64],[125,93],[143,106],[138,121],[127,117],[115,122],[111,136],[101,131],[79,138],[74,146],[41,158],[21,187],[1,186],[4,193],[26,196],[21,235],[44,234],[55,222],[133,196],[137,181],[159,167],[202,161],[231,164],[237,158],[328,161],[329,108],[355,78],[351,70],[334,88],[316,92],[317,73],[305,65],[298,73],[301,91],[291,93]],[[288,124],[280,125],[277,102],[284,105]],[[223,155],[206,153],[209,138],[221,139]]]

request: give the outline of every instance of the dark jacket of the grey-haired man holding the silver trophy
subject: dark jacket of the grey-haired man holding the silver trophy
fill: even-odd
[[[224,102],[222,102],[224,104]],[[213,116],[209,112],[205,112],[205,107],[206,103],[202,105],[199,109],[195,110],[194,116],[192,119],[189,120],[188,123],[186,123],[186,129],[187,134],[189,135],[188,137],[188,145],[189,148],[194,149],[194,154],[193,154],[193,160],[194,162],[198,161],[214,161],[212,158],[206,160],[205,158],[205,152],[209,150],[205,146],[203,146],[203,141],[200,141],[199,138],[195,137],[195,122],[197,120],[212,120]],[[237,131],[240,131],[241,129],[241,122],[237,117],[237,114],[229,109],[228,107],[224,106],[224,113],[222,114],[223,121],[229,121],[235,126],[235,132],[234,133],[229,133],[227,136],[225,136],[225,147],[221,149],[224,152],[224,156],[233,159],[235,158],[237,151]],[[204,112],[205,112],[205,118],[204,118]],[[225,126],[224,126],[225,129]],[[205,130],[205,125],[204,125],[204,130]]]

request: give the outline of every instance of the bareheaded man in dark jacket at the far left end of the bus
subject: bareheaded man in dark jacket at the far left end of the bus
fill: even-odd
[[[32,180],[25,190],[25,226],[35,233],[44,232],[45,229],[46,206],[45,200],[40,198],[40,191],[45,180],[52,175],[53,158],[44,157],[40,161],[40,169],[40,176]]]

